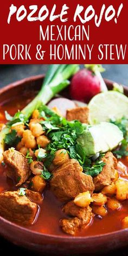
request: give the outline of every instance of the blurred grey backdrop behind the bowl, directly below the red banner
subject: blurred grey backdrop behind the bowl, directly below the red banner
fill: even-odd
[[[128,86],[128,65],[103,65],[104,78]],[[3,65],[0,66],[0,87],[31,75],[46,73],[48,65]]]

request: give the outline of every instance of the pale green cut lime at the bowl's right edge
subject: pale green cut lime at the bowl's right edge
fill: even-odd
[[[110,119],[128,118],[128,98],[119,92],[99,93],[88,104],[89,123],[98,124]]]

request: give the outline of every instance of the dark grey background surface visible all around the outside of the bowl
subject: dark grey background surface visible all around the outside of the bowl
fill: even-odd
[[[47,66],[48,65],[5,65],[5,66],[0,66],[0,87],[3,87],[5,85],[10,84],[11,82],[26,78],[31,75],[46,73]],[[105,78],[128,86],[128,65],[104,65],[104,67],[106,68],[106,72],[103,73],[103,76]],[[28,255],[28,256],[39,255],[37,253],[33,253],[33,252],[27,251],[23,248],[14,246],[14,245],[10,244],[10,242],[8,242],[0,237],[0,255],[3,255],[3,254],[6,255],[8,252],[10,252],[11,254],[13,253],[13,255]],[[114,256],[114,255],[119,255],[119,254],[121,256],[127,256],[128,248],[110,252],[109,256]],[[46,253],[45,254],[42,253],[42,255],[47,256]],[[100,255],[103,255],[103,253],[101,253]],[[69,256],[71,256],[71,255],[69,255]]]

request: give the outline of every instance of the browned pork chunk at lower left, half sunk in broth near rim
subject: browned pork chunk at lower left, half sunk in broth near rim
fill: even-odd
[[[6,191],[0,194],[0,215],[5,219],[22,225],[31,225],[37,213],[37,204],[18,191]]]

